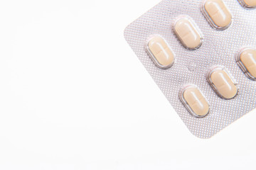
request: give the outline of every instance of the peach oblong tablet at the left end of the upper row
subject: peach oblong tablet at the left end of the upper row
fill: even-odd
[[[160,35],[150,38],[146,49],[154,63],[161,69],[169,69],[174,64],[174,52]]]

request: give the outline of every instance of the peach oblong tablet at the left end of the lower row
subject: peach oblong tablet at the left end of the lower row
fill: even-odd
[[[187,86],[181,91],[180,95],[181,101],[192,115],[197,118],[203,118],[208,115],[210,105],[196,86]]]

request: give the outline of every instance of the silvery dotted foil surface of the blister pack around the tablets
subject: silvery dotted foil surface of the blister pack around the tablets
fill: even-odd
[[[256,81],[246,77],[235,56],[242,47],[256,47],[256,9],[243,8],[237,0],[224,0],[233,14],[233,23],[226,30],[213,29],[201,11],[201,0],[164,0],[131,23],[124,37],[144,67],[174,107],[188,129],[200,138],[210,138],[256,106]],[[203,34],[198,50],[187,50],[174,34],[178,16],[188,15]],[[176,55],[170,69],[159,69],[145,50],[151,35],[161,35]],[[232,100],[220,98],[207,81],[211,67],[228,69],[238,83],[239,94]],[[178,94],[186,84],[194,84],[210,103],[210,113],[196,118],[188,112]]]

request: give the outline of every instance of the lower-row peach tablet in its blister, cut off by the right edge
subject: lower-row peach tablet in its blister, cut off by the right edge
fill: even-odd
[[[236,56],[238,65],[249,79],[256,80],[256,49],[245,47]]]

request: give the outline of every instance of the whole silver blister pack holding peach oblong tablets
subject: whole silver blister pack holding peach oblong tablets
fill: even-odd
[[[210,138],[256,106],[256,0],[164,0],[124,37],[188,129]]]

